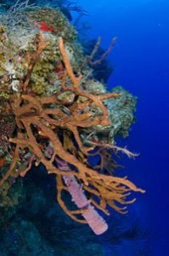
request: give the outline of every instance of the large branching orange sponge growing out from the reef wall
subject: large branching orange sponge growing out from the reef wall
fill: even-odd
[[[39,43],[37,44],[37,53],[34,53],[32,57],[28,57],[28,71],[24,81],[20,84],[20,90],[24,94],[13,98],[11,101],[18,133],[17,137],[10,138],[9,140],[10,143],[15,144],[14,159],[8,172],[0,181],[0,185],[2,185],[9,176],[14,175],[17,162],[20,161],[20,152],[24,154],[25,148],[28,148],[31,152],[30,163],[35,158],[36,165],[41,162],[46,166],[48,173],[54,173],[56,175],[59,204],[71,218],[81,223],[86,223],[82,218],[76,217],[77,214],[82,214],[86,209],[70,211],[65,207],[61,193],[63,190],[67,190],[63,179],[63,177],[66,176],[74,176],[76,181],[82,184],[82,189],[86,191],[94,207],[109,214],[106,208],[106,206],[109,205],[113,207],[115,211],[125,213],[126,207],[118,207],[115,202],[122,205],[132,203],[134,200],[126,201],[127,195],[130,195],[130,191],[144,192],[144,190],[138,189],[132,182],[127,180],[127,177],[121,178],[104,175],[87,164],[88,151],[93,148],[98,146],[102,148],[116,148],[116,150],[121,150],[121,148],[98,143],[93,143],[92,148],[88,148],[83,145],[79,134],[79,128],[88,128],[93,125],[110,125],[108,110],[105,108],[102,101],[120,95],[110,93],[101,96],[93,96],[82,90],[82,75],[76,77],[73,73],[62,38],[59,38],[59,49],[65,65],[65,72],[62,78],[61,90],[53,96],[43,98],[26,94],[33,67],[35,67],[42,53],[42,49],[44,49],[47,44],[48,43],[43,42],[42,35],[40,34]],[[67,79],[70,79],[70,85],[66,84]],[[71,101],[65,102],[60,100],[60,96],[65,92],[71,93]],[[94,108],[99,108],[99,115],[95,116],[89,111],[93,106]],[[61,137],[63,137],[63,139],[61,139]],[[53,148],[53,152],[50,156],[45,154],[44,148],[42,148],[41,145],[42,140]],[[74,140],[76,141],[76,146]],[[126,148],[122,150],[129,154]],[[70,172],[60,170],[59,167],[56,166],[55,159],[57,157],[70,166]],[[18,170],[18,172],[24,176],[30,169],[30,165],[25,172],[21,173],[20,170]]]

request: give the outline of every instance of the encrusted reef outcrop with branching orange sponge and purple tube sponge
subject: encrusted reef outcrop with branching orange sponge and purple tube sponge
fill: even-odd
[[[90,155],[109,150],[135,156],[114,143],[115,134],[127,136],[134,98],[121,88],[108,93],[104,84],[93,79],[90,67],[84,65],[82,48],[75,42],[76,31],[59,9],[13,9],[0,23],[3,201],[16,178],[24,177],[33,162],[36,166],[42,163],[56,177],[60,207],[100,235],[107,224],[96,209],[109,215],[110,206],[126,213],[120,205],[135,201],[127,201],[131,191],[144,192],[127,177],[103,173],[88,162]],[[65,191],[77,209],[66,207]]]

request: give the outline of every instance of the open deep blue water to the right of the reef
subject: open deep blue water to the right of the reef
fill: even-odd
[[[166,0],[79,0],[89,12],[91,38],[102,38],[109,47],[117,37],[109,60],[115,72],[109,88],[121,84],[138,96],[137,123],[124,144],[140,153],[126,160],[128,177],[146,194],[138,196],[131,218],[138,218],[140,231],[148,230],[149,253],[137,254],[137,242],[130,241],[119,254],[112,254],[113,222],[101,240],[107,255],[169,255],[169,2]],[[128,241],[129,242],[129,241]],[[127,249],[128,248],[128,249]]]

